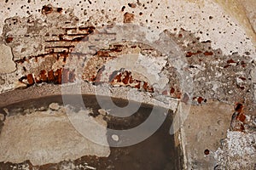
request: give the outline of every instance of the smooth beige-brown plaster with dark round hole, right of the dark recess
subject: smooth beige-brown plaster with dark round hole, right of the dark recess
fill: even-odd
[[[187,152],[188,169],[214,167],[214,151],[226,137],[232,110],[232,105],[218,101],[208,101],[206,105],[190,108],[183,125],[183,147]]]

